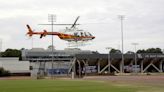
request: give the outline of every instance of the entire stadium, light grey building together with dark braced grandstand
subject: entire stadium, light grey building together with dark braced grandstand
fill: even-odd
[[[82,77],[84,75],[164,71],[164,54],[155,53],[137,54],[136,65],[135,54],[124,54],[124,64],[122,64],[119,53],[100,54],[76,48],[54,50],[53,53],[50,49],[41,48],[23,50],[22,58],[30,61],[32,77],[70,76],[71,72],[74,72],[77,77]]]

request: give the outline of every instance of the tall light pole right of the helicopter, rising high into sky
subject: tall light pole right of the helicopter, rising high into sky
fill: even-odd
[[[122,65],[122,67],[121,67],[120,71],[121,71],[121,73],[123,73],[124,72],[124,36],[123,36],[124,33],[123,33],[123,20],[124,20],[125,16],[124,15],[118,15],[118,17],[121,20],[121,41],[122,41],[122,46],[121,46],[121,50],[122,50],[121,65]]]

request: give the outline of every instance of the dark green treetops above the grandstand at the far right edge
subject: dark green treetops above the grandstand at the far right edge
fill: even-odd
[[[148,48],[146,50],[138,50],[137,53],[162,53],[160,48]]]

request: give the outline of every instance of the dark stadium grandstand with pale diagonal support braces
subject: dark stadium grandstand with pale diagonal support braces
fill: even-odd
[[[164,54],[142,53],[124,54],[124,64],[121,63],[121,54],[77,54],[76,75],[113,74],[116,73],[162,73],[164,72]],[[110,58],[109,58],[110,57]],[[91,68],[90,68],[91,67]],[[92,68],[94,67],[94,68]],[[83,69],[85,68],[85,69]],[[123,68],[123,71],[121,71]],[[93,70],[93,71],[92,71]],[[96,71],[95,71],[96,70]],[[83,74],[84,71],[84,74]]]

